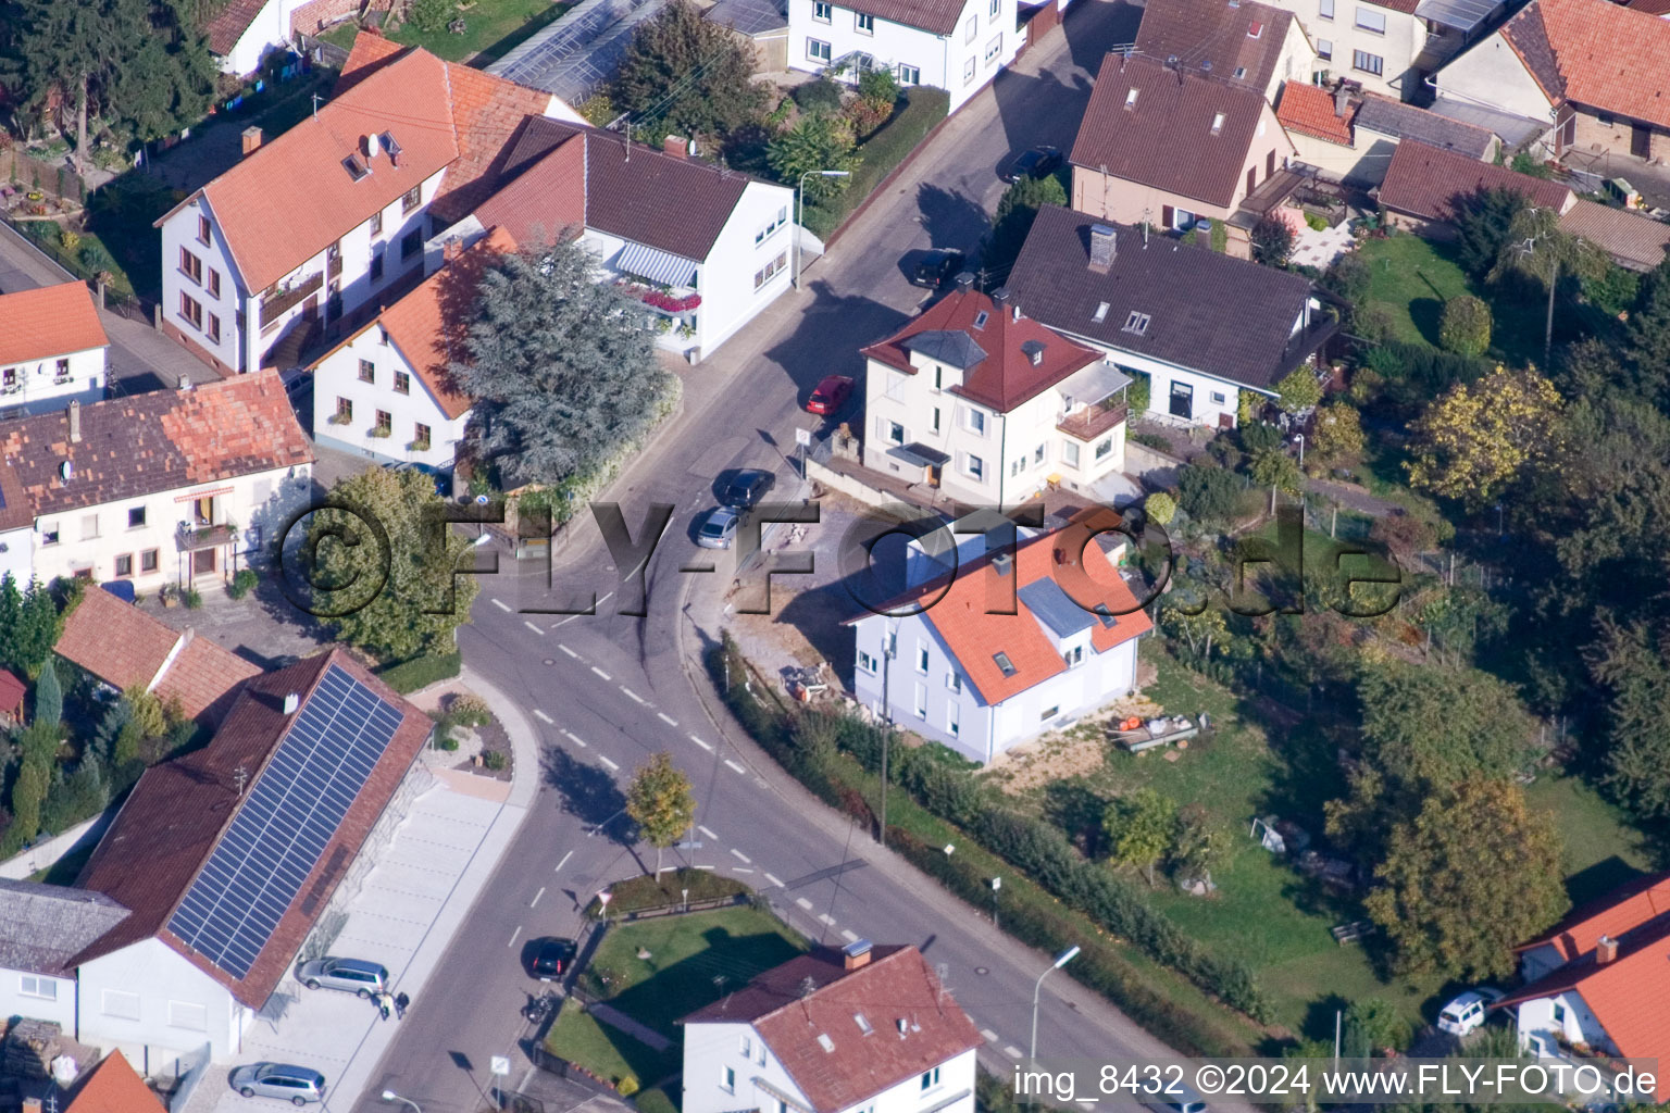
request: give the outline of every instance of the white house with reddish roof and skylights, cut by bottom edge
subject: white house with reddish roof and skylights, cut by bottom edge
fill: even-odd
[[[913,946],[817,948],[680,1023],[686,1113],[974,1113],[980,1033]]]

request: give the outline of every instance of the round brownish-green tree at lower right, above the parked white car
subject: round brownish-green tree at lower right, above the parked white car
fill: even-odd
[[[1505,781],[1465,781],[1391,831],[1363,904],[1406,975],[1495,978],[1570,908],[1553,819]]]

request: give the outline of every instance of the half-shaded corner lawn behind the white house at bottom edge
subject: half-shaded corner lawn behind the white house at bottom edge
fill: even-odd
[[[678,1040],[673,1021],[740,990],[807,946],[767,911],[721,908],[613,928],[581,978],[620,1011]],[[650,958],[638,958],[640,951]]]

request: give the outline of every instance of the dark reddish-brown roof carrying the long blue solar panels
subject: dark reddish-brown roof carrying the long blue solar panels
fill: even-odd
[[[77,886],[132,916],[73,964],[155,936],[261,1008],[433,723],[344,649],[252,677],[214,739],[147,769]]]

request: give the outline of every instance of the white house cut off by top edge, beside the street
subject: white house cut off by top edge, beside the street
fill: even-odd
[[[1022,35],[1015,0],[788,0],[788,67],[892,70],[902,85],[950,93],[955,112],[1014,62]]]

